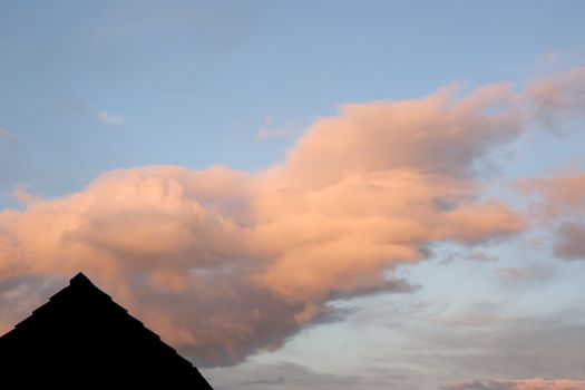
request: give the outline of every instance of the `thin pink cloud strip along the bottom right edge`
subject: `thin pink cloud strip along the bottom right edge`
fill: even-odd
[[[471,382],[455,382],[442,387],[443,390],[585,390],[585,381],[540,378],[524,380],[485,380]]]

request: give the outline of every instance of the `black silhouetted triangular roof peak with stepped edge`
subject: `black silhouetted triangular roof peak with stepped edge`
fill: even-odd
[[[82,273],[0,338],[0,387],[13,381],[22,388],[213,390],[188,360]]]

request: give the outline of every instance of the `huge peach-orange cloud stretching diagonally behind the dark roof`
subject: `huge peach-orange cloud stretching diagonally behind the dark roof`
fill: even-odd
[[[449,87],[342,106],[254,174],[108,172],[0,213],[0,283],[10,294],[86,272],[198,364],[234,364],[338,319],[332,299],[408,291],[394,270],[435,243],[523,232],[521,213],[481,197],[474,167],[527,125],[507,85]]]

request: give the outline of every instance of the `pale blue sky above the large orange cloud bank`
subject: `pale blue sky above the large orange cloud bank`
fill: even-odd
[[[154,163],[256,170],[290,142],[257,142],[267,118],[302,128],[340,104],[417,98],[451,81],[521,84],[548,56],[575,60],[581,8],[2,2],[1,126],[18,136],[2,186],[55,196]],[[124,126],[96,120],[100,111]]]

